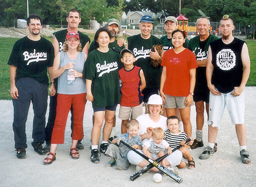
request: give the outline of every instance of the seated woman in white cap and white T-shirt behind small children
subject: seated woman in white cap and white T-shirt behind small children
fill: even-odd
[[[151,138],[152,133],[149,129],[161,127],[163,130],[167,129],[166,120],[167,118],[163,115],[163,100],[160,95],[153,94],[149,97],[147,102],[147,111],[148,114],[140,115],[136,120],[140,123],[139,135],[142,139],[142,143],[149,140]],[[141,151],[141,150],[138,150]],[[141,151],[142,152],[142,151]],[[127,155],[129,162],[132,165],[139,165],[140,167],[144,167],[148,165],[146,159],[142,158],[140,155],[135,153],[134,151],[130,151]],[[166,158],[167,165],[171,165],[174,167],[175,165],[179,165],[182,158],[181,151],[177,150]],[[136,170],[139,170],[140,167],[136,167]],[[156,167],[151,169],[152,171],[158,172]],[[174,171],[174,169],[172,169]],[[177,170],[177,169],[176,169]]]

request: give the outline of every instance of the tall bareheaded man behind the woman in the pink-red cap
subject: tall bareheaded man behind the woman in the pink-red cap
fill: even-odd
[[[87,58],[88,55],[88,47],[90,43],[90,38],[85,35],[84,33],[78,31],[78,25],[81,22],[81,14],[78,10],[76,9],[71,9],[67,13],[67,18],[68,22],[68,29],[63,29],[57,32],[53,33],[53,46],[54,46],[54,54],[56,55],[59,51],[63,49],[63,44],[66,39],[66,35],[68,32],[78,32],[79,34],[79,39],[80,43],[82,45],[82,52],[85,53],[85,56]],[[52,83],[53,85],[55,84],[55,89],[57,90],[57,82],[58,79],[54,79],[54,82]],[[52,132],[54,128],[54,122],[55,122],[55,117],[56,117],[56,107],[57,107],[57,94],[54,96],[50,97],[50,106],[49,106],[49,117],[48,117],[48,122],[46,126],[46,145],[44,149],[46,151],[50,151],[50,145],[51,145],[51,137],[52,137]],[[71,130],[73,130],[73,109],[72,106],[70,108],[71,111]],[[72,134],[71,134],[72,137]],[[77,144],[77,149],[84,149],[84,145],[81,143],[82,140],[78,140]]]

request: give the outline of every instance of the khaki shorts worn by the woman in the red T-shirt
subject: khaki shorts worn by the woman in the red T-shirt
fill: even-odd
[[[165,94],[165,96],[167,97],[167,99],[165,99],[166,104],[164,105],[164,108],[177,108],[177,107],[179,109],[186,108],[185,106],[186,97],[171,96],[167,94]],[[192,103],[192,105],[194,105],[194,102]]]

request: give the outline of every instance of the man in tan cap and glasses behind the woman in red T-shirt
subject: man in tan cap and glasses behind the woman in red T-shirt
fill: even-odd
[[[173,30],[178,29],[178,21],[174,16],[168,16],[164,20],[164,29],[167,35],[162,36],[161,42],[163,45],[163,50],[170,50],[173,48],[173,44],[171,43],[171,34]],[[188,39],[186,39],[185,43],[183,43],[183,47],[186,48],[186,44],[188,43]]]

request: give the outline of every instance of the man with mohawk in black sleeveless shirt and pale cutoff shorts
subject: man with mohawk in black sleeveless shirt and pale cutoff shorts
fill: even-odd
[[[220,120],[225,106],[231,122],[235,124],[240,145],[242,163],[251,159],[246,146],[246,127],[244,122],[244,87],[250,74],[250,58],[246,43],[232,35],[233,20],[224,15],[220,20],[222,38],[210,43],[206,69],[209,97],[208,146],[200,159],[208,159],[214,154],[214,143],[220,128]]]

